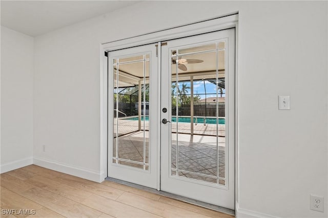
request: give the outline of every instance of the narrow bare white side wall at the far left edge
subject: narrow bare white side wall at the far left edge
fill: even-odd
[[[1,173],[32,163],[33,43],[1,27]]]

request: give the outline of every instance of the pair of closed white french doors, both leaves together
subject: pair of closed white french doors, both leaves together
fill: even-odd
[[[109,177],[234,209],[234,36],[109,52]]]

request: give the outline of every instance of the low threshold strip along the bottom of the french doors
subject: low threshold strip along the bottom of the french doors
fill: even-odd
[[[157,195],[165,196],[165,197],[168,197],[168,198],[172,198],[172,199],[175,199],[175,200],[178,200],[178,201],[182,201],[182,202],[186,202],[186,203],[193,204],[193,205],[196,205],[196,206],[204,207],[204,208],[207,208],[207,209],[215,210],[215,211],[218,211],[218,212],[227,213],[227,214],[230,214],[230,215],[235,215],[234,210],[224,208],[224,207],[220,207],[220,206],[216,206],[216,205],[209,204],[209,203],[205,203],[205,202],[202,202],[202,201],[197,201],[197,200],[194,200],[194,199],[191,199],[191,198],[186,198],[186,197],[183,197],[183,196],[175,195],[173,193],[169,193],[169,192],[166,192],[166,191],[158,191],[157,189],[154,189],[154,188],[149,188],[149,187],[146,187],[146,186],[134,184],[134,183],[131,183],[131,182],[126,182],[126,181],[119,180],[119,179],[114,179],[114,178],[111,178],[111,177],[107,177],[105,180],[115,182],[115,183],[118,183],[118,184],[122,184],[122,185],[127,185],[127,186],[130,186],[130,187],[133,187],[133,188],[138,188],[138,189],[141,189],[141,190],[149,191],[149,192],[155,193]]]

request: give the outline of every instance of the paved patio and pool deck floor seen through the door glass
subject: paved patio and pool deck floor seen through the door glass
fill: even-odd
[[[114,122],[115,123],[115,122]],[[144,157],[143,137],[144,132],[138,131],[138,120],[118,119],[118,157],[122,159],[142,162]],[[142,125],[143,126],[143,125]],[[145,129],[149,130],[149,122],[145,122]],[[194,135],[190,134],[190,123],[178,123],[178,134],[172,135],[172,169],[176,168],[176,137],[178,137],[178,175],[202,181],[224,184],[224,180],[217,181],[214,178],[206,177],[225,176],[225,125],[218,125],[219,136],[216,137],[215,124],[194,124]],[[172,123],[172,132],[176,133],[177,125]],[[114,128],[114,132],[116,128]],[[146,163],[148,162],[148,137],[146,136]],[[218,146],[216,140],[218,139]],[[114,139],[115,140],[115,139]],[[114,154],[116,148],[114,148]],[[142,165],[131,162],[120,162],[124,165],[142,167]],[[175,171],[173,171],[175,173]],[[196,173],[196,174],[193,174]],[[203,176],[201,176],[201,175]]]

